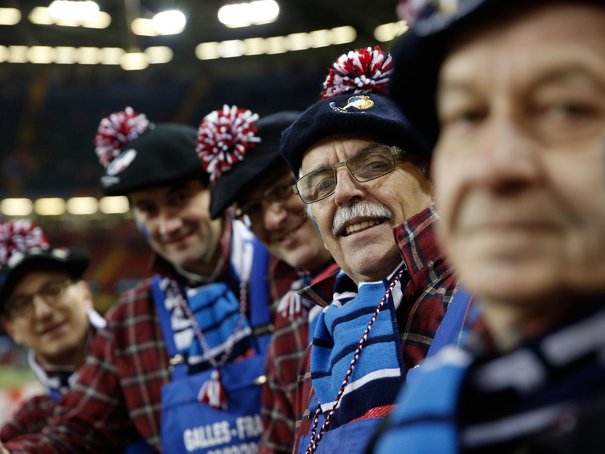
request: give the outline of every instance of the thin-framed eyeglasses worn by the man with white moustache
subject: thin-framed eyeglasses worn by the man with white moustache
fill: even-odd
[[[395,169],[395,156],[405,154],[399,146],[378,146],[354,154],[338,164],[322,167],[302,176],[292,189],[302,202],[313,203],[332,196],[336,190],[336,169],[347,166],[349,173],[360,183],[385,176]]]

